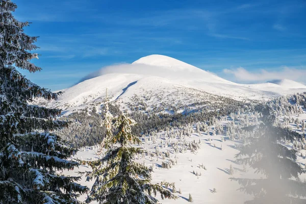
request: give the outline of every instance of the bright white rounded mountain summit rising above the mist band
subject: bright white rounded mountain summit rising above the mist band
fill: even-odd
[[[189,71],[198,71],[199,68],[182,62],[180,60],[176,60],[174,58],[165,56],[165,55],[148,55],[146,57],[142,57],[139,60],[136,60],[132,64],[145,64],[151,66],[159,66],[159,67],[167,67],[173,71],[177,70],[189,70]]]

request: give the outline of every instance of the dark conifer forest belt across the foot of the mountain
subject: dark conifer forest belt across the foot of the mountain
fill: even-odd
[[[160,132],[168,127],[181,128],[182,125],[193,125],[197,122],[207,122],[212,125],[217,118],[227,116],[230,113],[242,111],[243,103],[232,99],[225,100],[220,106],[215,105],[217,110],[207,111],[206,109],[190,112],[188,114],[174,113],[141,113],[132,112],[127,116],[133,118],[137,125],[132,126],[132,133],[135,135],[148,135],[154,131]],[[116,104],[109,104],[109,111],[112,115],[120,115],[121,112]],[[56,134],[69,141],[71,147],[80,148],[99,144],[105,135],[105,127],[100,127],[101,115],[89,112],[87,109],[63,117],[72,124],[69,128],[56,132]]]

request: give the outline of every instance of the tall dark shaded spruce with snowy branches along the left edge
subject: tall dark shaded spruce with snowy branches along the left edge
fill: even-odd
[[[37,54],[36,37],[23,33],[28,22],[16,20],[17,6],[0,1],[0,203],[78,203],[86,187],[57,170],[73,169],[75,149],[48,132],[67,126],[56,120],[61,111],[29,105],[33,98],[57,99],[57,94],[31,83],[15,67],[39,71],[30,62]]]

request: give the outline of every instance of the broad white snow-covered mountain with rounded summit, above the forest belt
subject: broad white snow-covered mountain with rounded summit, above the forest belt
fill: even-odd
[[[132,64],[105,67],[85,79],[87,80],[62,90],[63,95],[47,106],[69,112],[86,106],[99,106],[106,88],[113,95],[113,100],[129,102],[136,94],[144,97],[149,105],[163,101],[172,101],[175,104],[180,100],[186,103],[192,97],[207,93],[242,100],[267,99],[306,91],[306,86],[290,80],[237,84],[162,55],[146,56]]]

